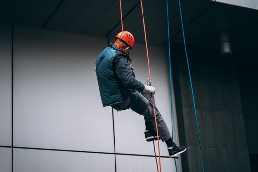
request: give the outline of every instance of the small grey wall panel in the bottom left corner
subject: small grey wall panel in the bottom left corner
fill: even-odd
[[[12,171],[12,149],[0,147],[0,172]]]

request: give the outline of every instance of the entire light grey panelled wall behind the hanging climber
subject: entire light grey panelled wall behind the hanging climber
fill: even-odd
[[[107,42],[0,24],[0,172],[12,171],[12,142],[14,172],[156,172],[143,116],[102,107],[94,66]],[[167,50],[149,50],[156,104],[171,130]],[[145,83],[144,45],[130,55]],[[161,155],[163,172],[175,171],[165,143]]]

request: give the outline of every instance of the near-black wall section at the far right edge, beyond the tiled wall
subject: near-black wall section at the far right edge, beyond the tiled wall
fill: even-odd
[[[252,172],[258,171],[258,61],[238,59],[238,78]]]

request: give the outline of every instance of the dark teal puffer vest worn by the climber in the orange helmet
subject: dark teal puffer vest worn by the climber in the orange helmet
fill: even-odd
[[[114,66],[115,58],[120,55],[123,56],[119,49],[112,45],[103,50],[96,60],[96,74],[103,106],[121,103],[129,95],[128,88],[123,86]]]

